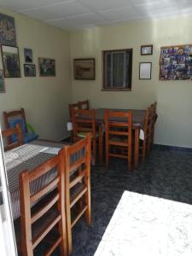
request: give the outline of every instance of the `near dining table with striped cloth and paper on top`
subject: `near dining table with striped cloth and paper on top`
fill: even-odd
[[[26,143],[18,148],[13,148],[4,153],[5,169],[8,178],[9,197],[14,220],[20,217],[20,172],[24,170],[32,171],[35,167],[43,164],[66,144],[54,143],[44,140],[35,140]],[[38,178],[31,183],[32,193],[46,186],[56,176],[55,170]]]

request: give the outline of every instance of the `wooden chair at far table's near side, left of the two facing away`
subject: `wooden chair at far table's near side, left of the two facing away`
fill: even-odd
[[[74,142],[86,137],[88,132],[92,134],[92,146],[94,160],[96,161],[96,143],[99,144],[99,161],[102,163],[102,125],[96,131],[96,111],[95,109],[73,109],[73,139]]]

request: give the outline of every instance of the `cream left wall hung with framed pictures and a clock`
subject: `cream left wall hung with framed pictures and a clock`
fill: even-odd
[[[5,79],[6,93],[0,94],[1,118],[3,110],[22,107],[27,122],[35,127],[40,137],[55,140],[67,137],[67,104],[72,99],[69,33],[4,9],[0,9],[0,13],[15,17],[21,68],[20,79]],[[24,76],[24,48],[32,49],[35,78]],[[55,59],[55,77],[39,77],[39,56]]]

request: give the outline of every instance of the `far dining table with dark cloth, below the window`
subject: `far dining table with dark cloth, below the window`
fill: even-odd
[[[104,127],[104,112],[109,111],[131,111],[132,114],[132,131],[134,132],[134,167],[138,166],[139,160],[139,139],[143,139],[143,122],[145,110],[143,109],[122,109],[122,108],[96,108],[96,124],[103,124]],[[122,120],[123,121],[123,120]],[[102,136],[102,135],[100,135]]]

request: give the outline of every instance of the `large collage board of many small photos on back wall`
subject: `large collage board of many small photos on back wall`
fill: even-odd
[[[160,80],[192,80],[192,44],[161,47]]]

